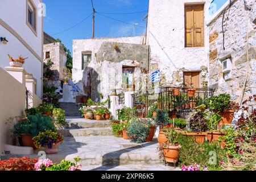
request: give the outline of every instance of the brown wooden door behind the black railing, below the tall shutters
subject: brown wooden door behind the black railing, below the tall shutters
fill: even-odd
[[[199,88],[200,72],[183,72],[185,88]]]

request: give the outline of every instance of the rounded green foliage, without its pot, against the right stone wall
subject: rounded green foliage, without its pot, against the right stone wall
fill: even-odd
[[[212,96],[205,100],[210,109],[215,112],[223,112],[229,108],[230,104],[230,95],[229,94],[220,94],[218,96]]]

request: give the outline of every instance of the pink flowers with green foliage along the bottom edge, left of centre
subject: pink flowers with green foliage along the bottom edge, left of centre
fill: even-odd
[[[40,159],[35,164],[36,171],[80,171],[82,167],[79,161],[79,156],[74,158],[75,162],[69,160],[61,160],[59,164],[54,164],[49,159]]]

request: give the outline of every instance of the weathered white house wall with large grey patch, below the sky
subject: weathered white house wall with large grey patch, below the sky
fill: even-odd
[[[100,101],[100,96],[105,100],[113,89],[117,89],[119,93],[123,91],[123,67],[134,68],[135,90],[146,87],[147,74],[142,72],[142,68],[148,68],[149,48],[142,45],[143,37],[84,41],[90,44],[80,47],[79,40],[73,44],[73,80],[79,82],[85,93],[90,93],[93,100]],[[118,48],[115,49],[115,46]],[[92,61],[81,70],[83,51],[92,51]]]

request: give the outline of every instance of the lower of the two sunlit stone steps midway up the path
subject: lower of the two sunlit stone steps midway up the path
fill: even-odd
[[[86,129],[61,129],[59,133],[64,137],[109,136],[112,134],[110,127],[94,127]]]

